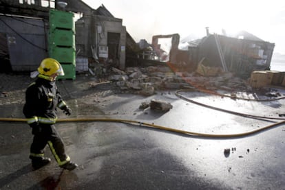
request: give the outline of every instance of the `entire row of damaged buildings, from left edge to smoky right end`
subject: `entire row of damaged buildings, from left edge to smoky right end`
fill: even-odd
[[[204,38],[187,42],[187,49],[179,48],[179,34],[155,35],[151,44],[146,40],[136,43],[123,20],[113,16],[104,5],[95,10],[77,0],[0,1],[2,70],[34,71],[43,58],[53,56],[51,10],[73,15],[74,45],[66,50],[60,45],[63,51],[57,56],[74,55],[70,62],[74,62],[76,71],[88,71],[92,62],[121,70],[167,62],[176,71],[198,71],[204,76],[229,71],[242,78],[249,78],[255,70],[270,70],[274,43],[248,32],[226,36],[210,34],[207,28]],[[168,53],[160,48],[160,38],[171,38]]]

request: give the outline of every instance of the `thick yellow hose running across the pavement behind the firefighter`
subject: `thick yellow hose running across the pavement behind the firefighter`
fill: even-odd
[[[27,119],[21,119],[21,118],[0,118],[0,121],[18,121],[18,122],[26,122]],[[79,121],[108,121],[108,122],[117,122],[117,123],[132,123],[132,124],[138,124],[138,126],[142,127],[148,127],[148,128],[156,128],[160,130],[166,130],[170,132],[177,132],[180,134],[187,134],[189,136],[200,136],[200,137],[208,137],[208,138],[234,138],[234,137],[242,137],[242,136],[249,136],[251,134],[255,134],[257,132],[261,132],[263,130],[267,130],[269,128],[273,128],[276,126],[279,126],[281,124],[284,124],[285,121],[280,121],[277,123],[273,123],[269,126],[265,126],[263,128],[258,128],[256,130],[251,130],[249,132],[242,132],[237,134],[207,134],[207,133],[200,133],[200,132],[191,132],[187,130],[178,130],[175,128],[167,128],[164,126],[158,126],[151,123],[144,123],[140,121],[134,121],[134,120],[127,120],[127,119],[105,119],[105,118],[69,118],[69,119],[58,119],[58,122],[79,122]]]

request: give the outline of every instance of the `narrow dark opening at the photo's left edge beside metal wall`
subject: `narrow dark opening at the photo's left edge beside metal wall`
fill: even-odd
[[[0,33],[0,73],[12,71],[6,34]]]

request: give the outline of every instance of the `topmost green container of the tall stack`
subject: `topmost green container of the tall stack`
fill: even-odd
[[[70,29],[75,33],[74,14],[60,10],[50,10],[50,31]]]

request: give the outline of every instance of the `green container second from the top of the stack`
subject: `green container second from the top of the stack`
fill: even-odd
[[[71,30],[54,29],[49,33],[49,45],[61,47],[73,47],[75,49],[75,35]]]

